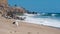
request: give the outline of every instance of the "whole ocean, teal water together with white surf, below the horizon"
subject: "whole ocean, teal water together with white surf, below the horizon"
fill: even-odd
[[[48,13],[46,14],[27,14],[25,13],[26,19],[24,22],[46,25],[60,28],[60,14]]]

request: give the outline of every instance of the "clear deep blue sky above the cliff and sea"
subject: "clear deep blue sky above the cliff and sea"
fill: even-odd
[[[60,13],[60,0],[8,0],[8,4],[35,12]]]

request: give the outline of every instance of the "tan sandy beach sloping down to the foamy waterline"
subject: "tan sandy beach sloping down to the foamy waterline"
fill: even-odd
[[[0,16],[0,34],[60,34],[60,29],[43,25],[20,22],[19,26],[12,24],[14,19]]]

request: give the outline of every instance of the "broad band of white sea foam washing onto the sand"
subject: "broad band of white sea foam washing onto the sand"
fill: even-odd
[[[60,28],[60,21],[51,18],[33,18],[27,15],[24,22]]]

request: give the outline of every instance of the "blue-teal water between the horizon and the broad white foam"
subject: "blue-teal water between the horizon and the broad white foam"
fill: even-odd
[[[60,20],[60,13],[45,13],[45,14],[40,14],[34,16],[34,18],[50,18],[50,19],[55,19],[55,20]]]

